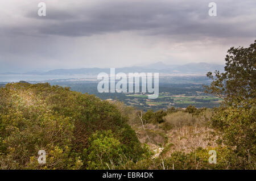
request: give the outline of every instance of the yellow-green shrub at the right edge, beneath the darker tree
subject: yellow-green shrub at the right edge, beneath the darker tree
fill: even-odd
[[[221,107],[212,118],[213,127],[222,132],[224,144],[232,146],[243,158],[245,169],[256,166],[255,112],[255,100],[252,100],[250,105]]]

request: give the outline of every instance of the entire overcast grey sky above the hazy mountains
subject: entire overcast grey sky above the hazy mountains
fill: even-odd
[[[8,0],[0,14],[0,72],[224,64],[256,39],[255,0]]]

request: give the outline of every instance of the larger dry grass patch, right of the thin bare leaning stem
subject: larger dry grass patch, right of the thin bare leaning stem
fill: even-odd
[[[174,125],[174,128],[167,133],[168,142],[174,144],[168,154],[174,151],[189,153],[199,147],[203,149],[216,147],[217,135],[220,134],[208,126],[211,115],[212,112],[206,110],[197,116],[176,112],[164,117],[164,120]]]

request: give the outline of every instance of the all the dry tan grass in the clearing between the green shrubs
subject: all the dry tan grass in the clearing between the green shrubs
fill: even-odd
[[[169,131],[163,131],[158,125],[154,124],[145,124],[144,127],[156,133],[161,132],[161,136],[163,136],[163,133],[166,135],[168,138],[167,144],[172,144],[170,149],[166,152],[167,156],[174,153],[174,151],[190,153],[199,147],[207,149],[209,147],[217,146],[217,135],[220,134],[217,134],[214,129],[209,128],[208,121],[210,116],[211,112],[209,110],[206,110],[197,116],[179,111],[164,117],[164,120],[167,123],[173,125],[172,129]],[[159,148],[159,143],[163,144],[162,139],[156,135],[154,137],[154,134],[148,134],[151,139],[151,142],[149,142],[146,134],[141,128],[142,127],[137,127],[139,141],[143,143],[147,142],[152,150]]]

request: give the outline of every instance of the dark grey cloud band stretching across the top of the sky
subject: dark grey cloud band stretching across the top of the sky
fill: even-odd
[[[216,1],[217,16],[208,15],[206,1],[104,1],[88,9],[86,5],[68,9],[51,9],[39,17],[35,11],[27,17],[42,20],[40,26],[30,24],[45,35],[91,36],[119,31],[144,31],[145,35],[195,35],[210,37],[254,36],[251,19],[237,21],[253,14],[253,1]],[[254,13],[255,17],[255,13]],[[255,22],[255,19],[254,19]],[[142,32],[140,32],[142,33]]]

